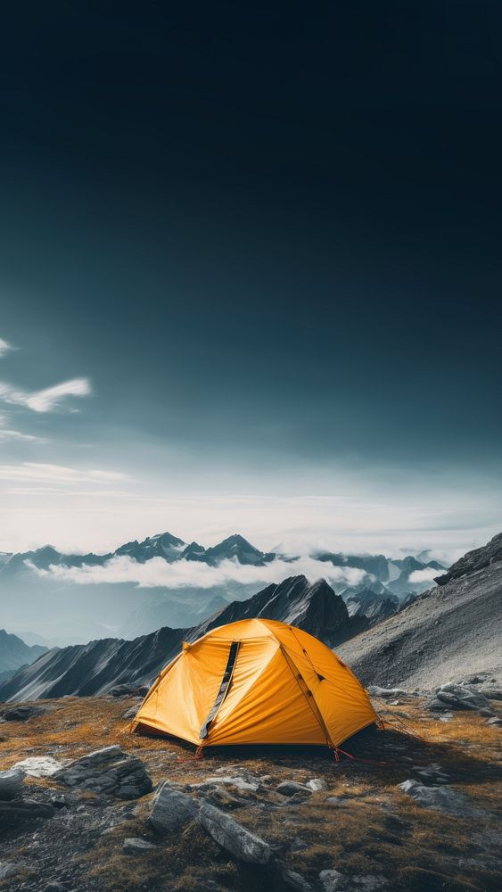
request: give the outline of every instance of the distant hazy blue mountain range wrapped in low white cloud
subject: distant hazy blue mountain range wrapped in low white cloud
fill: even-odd
[[[305,573],[305,560],[310,562],[309,576],[325,575],[347,602],[358,599],[361,586],[372,592],[364,604],[361,599],[352,602],[350,610],[374,618],[389,615],[398,602],[427,588],[430,582],[410,579],[414,571],[430,576],[441,568],[427,554],[420,558],[334,551],[307,558],[284,555],[280,549],[262,551],[239,533],[210,547],[159,533],[105,554],[66,554],[45,545],[0,555],[2,622],[22,637],[29,616],[29,631],[49,645],[110,636],[134,639],[162,626],[199,624],[228,603],[250,598],[267,583]],[[218,568],[221,574],[215,574]],[[138,582],[144,574],[152,578]],[[350,585],[354,577],[357,584]]]

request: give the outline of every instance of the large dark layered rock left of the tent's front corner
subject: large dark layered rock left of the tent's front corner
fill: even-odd
[[[136,799],[152,790],[152,779],[141,759],[116,745],[82,756],[53,774],[53,779],[119,799]]]

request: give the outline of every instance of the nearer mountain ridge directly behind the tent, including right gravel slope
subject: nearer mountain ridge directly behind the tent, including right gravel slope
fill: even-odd
[[[0,683],[0,699],[93,695],[149,683],[181,647],[211,628],[263,616],[324,640],[366,683],[430,689],[466,673],[502,671],[502,534],[439,575],[436,587],[381,622],[352,611],[324,579],[292,576],[234,601],[191,628],[162,628],[135,640],[108,638],[53,648]],[[359,603],[372,602],[364,589]],[[355,595],[351,598],[356,599]],[[383,599],[384,601],[385,599]]]

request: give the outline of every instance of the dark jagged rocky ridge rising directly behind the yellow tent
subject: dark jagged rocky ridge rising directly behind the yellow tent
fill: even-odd
[[[364,618],[350,619],[342,598],[324,580],[311,584],[305,576],[293,576],[247,601],[229,604],[192,629],[164,628],[133,641],[112,638],[50,650],[0,684],[0,700],[88,696],[123,682],[148,683],[183,640],[196,640],[215,626],[254,616],[297,625],[331,645],[365,627]]]

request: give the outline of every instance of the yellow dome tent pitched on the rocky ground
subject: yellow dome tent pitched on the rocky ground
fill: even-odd
[[[327,744],[377,721],[366,691],[333,650],[267,619],[212,629],[162,670],[130,731],[199,747]]]

